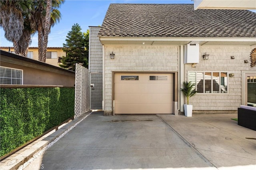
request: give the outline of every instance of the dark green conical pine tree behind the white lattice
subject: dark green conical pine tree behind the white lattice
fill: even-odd
[[[66,36],[66,44],[63,43],[62,50],[66,52],[66,56],[62,56],[62,68],[75,71],[76,63],[88,67],[87,49],[85,48],[85,37],[82,28],[78,23],[72,26],[71,31]]]

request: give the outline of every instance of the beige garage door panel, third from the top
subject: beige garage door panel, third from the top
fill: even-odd
[[[171,104],[172,94],[116,94],[115,104]]]

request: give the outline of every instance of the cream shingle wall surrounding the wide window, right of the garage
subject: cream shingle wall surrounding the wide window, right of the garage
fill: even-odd
[[[188,71],[223,71],[234,73],[228,77],[228,93],[196,94],[190,100],[193,110],[237,110],[242,104],[242,71],[256,73],[256,67],[250,67],[250,52],[254,47],[230,46],[200,46],[200,59],[196,67],[185,64],[185,80]],[[203,60],[204,53],[209,54],[208,60]],[[234,56],[235,59],[230,59]],[[248,60],[248,63],[244,63]]]

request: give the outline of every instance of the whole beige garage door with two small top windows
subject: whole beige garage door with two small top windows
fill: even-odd
[[[115,114],[170,114],[173,101],[171,73],[115,73]]]

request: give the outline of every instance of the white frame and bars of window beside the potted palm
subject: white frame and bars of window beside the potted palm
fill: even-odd
[[[228,86],[229,86],[229,83],[228,83],[228,75],[229,75],[229,73],[228,73],[228,71],[188,71],[188,80],[189,80],[189,73],[190,72],[195,72],[196,73],[196,75],[195,75],[195,82],[196,82],[196,80],[197,80],[197,73],[198,72],[200,72],[200,73],[203,73],[203,92],[202,93],[199,93],[198,92],[198,94],[228,94],[228,91],[229,91],[229,88],[228,88]],[[205,90],[205,73],[206,72],[210,72],[211,73],[211,90],[210,90],[210,93],[206,93],[206,90]],[[219,73],[219,82],[220,82],[220,84],[219,84],[219,92],[218,93],[214,93],[213,92],[213,73],[214,72],[218,72]],[[226,93],[222,93],[221,92],[221,73],[222,72],[226,72],[227,73],[227,91],[226,91]],[[196,90],[197,90],[197,83],[195,83],[195,88],[196,88]]]

